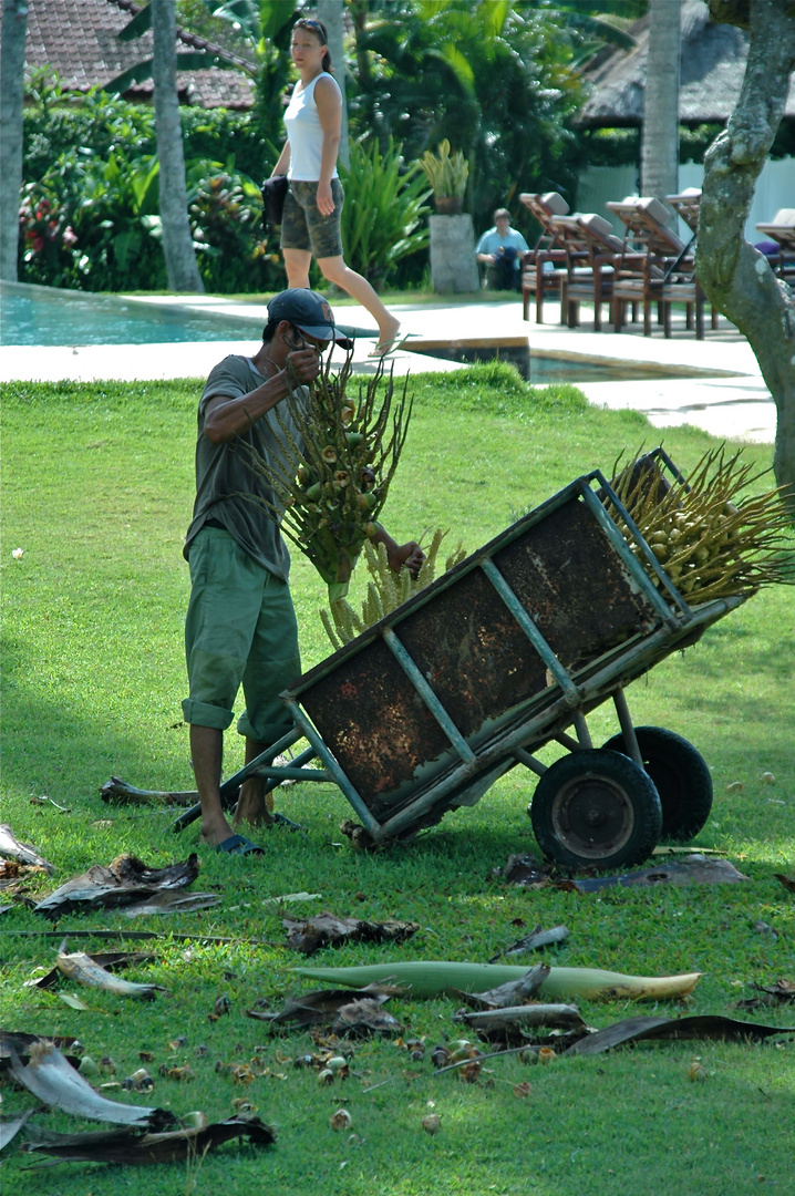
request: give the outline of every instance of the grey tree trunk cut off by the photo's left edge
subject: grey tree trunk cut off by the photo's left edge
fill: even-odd
[[[0,33],[0,279],[17,281],[23,164],[26,0],[2,0]]]

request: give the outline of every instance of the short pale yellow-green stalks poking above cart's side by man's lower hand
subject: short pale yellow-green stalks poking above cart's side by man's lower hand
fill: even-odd
[[[365,562],[371,580],[367,582],[367,596],[362,602],[361,616],[356,614],[345,598],[331,603],[331,614],[328,610],[320,611],[320,620],[335,649],[361,635],[373,623],[378,623],[379,618],[384,618],[400,603],[430,585],[436,575],[439,549],[446,535],[446,531],[436,529],[416,578],[412,578],[408,569],[400,569],[399,573],[396,573],[395,569],[390,568],[384,544],[365,544]],[[444,572],[447,573],[465,556],[466,551],[459,542],[445,561]]]

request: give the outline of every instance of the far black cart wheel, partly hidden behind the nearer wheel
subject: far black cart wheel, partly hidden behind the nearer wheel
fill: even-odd
[[[707,824],[713,808],[713,776],[693,745],[665,727],[636,727],[646,771],[662,804],[662,838],[689,843]],[[603,751],[625,752],[624,738],[613,736]]]

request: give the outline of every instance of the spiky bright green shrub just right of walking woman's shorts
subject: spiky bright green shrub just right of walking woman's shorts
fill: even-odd
[[[428,185],[417,163],[408,167],[392,138],[384,151],[374,138],[353,141],[350,166],[340,167],[345,191],[342,244],[345,261],[373,286],[395,277],[398,263],[424,257],[428,230],[423,218]]]

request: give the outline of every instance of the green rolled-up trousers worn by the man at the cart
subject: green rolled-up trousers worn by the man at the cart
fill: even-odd
[[[301,673],[289,586],[221,527],[202,527],[190,545],[189,565],[185,722],[226,731],[243,685],[246,706],[238,731],[270,745],[292,728],[279,695]]]

